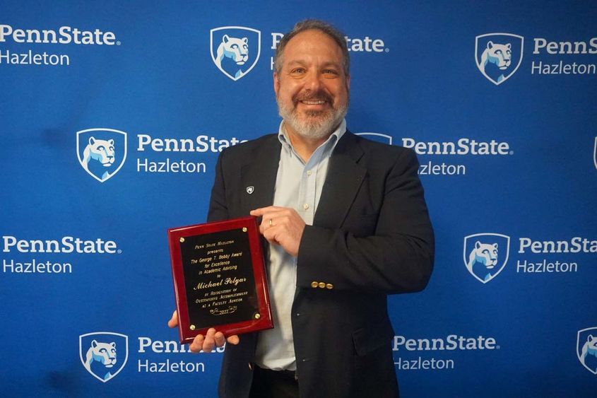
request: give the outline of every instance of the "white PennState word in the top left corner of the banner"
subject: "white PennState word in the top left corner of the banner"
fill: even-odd
[[[50,43],[76,45],[119,45],[113,32],[102,30],[79,30],[71,26],[61,26],[58,31],[51,29],[13,29],[11,25],[0,25],[0,42],[7,38],[16,43]]]

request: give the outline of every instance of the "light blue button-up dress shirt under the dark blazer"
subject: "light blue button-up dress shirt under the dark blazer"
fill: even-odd
[[[280,123],[278,139],[282,143],[276,175],[273,205],[295,209],[309,226],[313,225],[317,204],[324,187],[329,157],[346,131],[343,120],[329,139],[321,144],[305,163],[297,155]],[[274,219],[274,223],[276,220]],[[273,370],[296,370],[292,340],[291,310],[297,281],[297,259],[280,245],[269,245],[268,284],[273,316],[273,329],[259,333],[256,364]]]

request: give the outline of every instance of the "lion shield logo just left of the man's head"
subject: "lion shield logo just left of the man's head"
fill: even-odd
[[[244,26],[210,30],[211,59],[223,74],[237,81],[257,64],[261,54],[261,32]]]

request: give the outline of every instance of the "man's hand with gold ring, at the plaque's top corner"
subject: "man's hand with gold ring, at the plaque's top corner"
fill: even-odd
[[[295,209],[267,206],[252,210],[251,215],[262,217],[259,232],[268,242],[282,246],[285,252],[297,257],[305,221]]]

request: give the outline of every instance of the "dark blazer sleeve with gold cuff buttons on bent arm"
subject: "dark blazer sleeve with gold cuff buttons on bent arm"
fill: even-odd
[[[297,287],[313,282],[335,290],[407,293],[427,285],[433,267],[434,234],[418,178],[418,160],[405,150],[384,177],[379,212],[370,222],[372,235],[306,226],[297,257]]]

